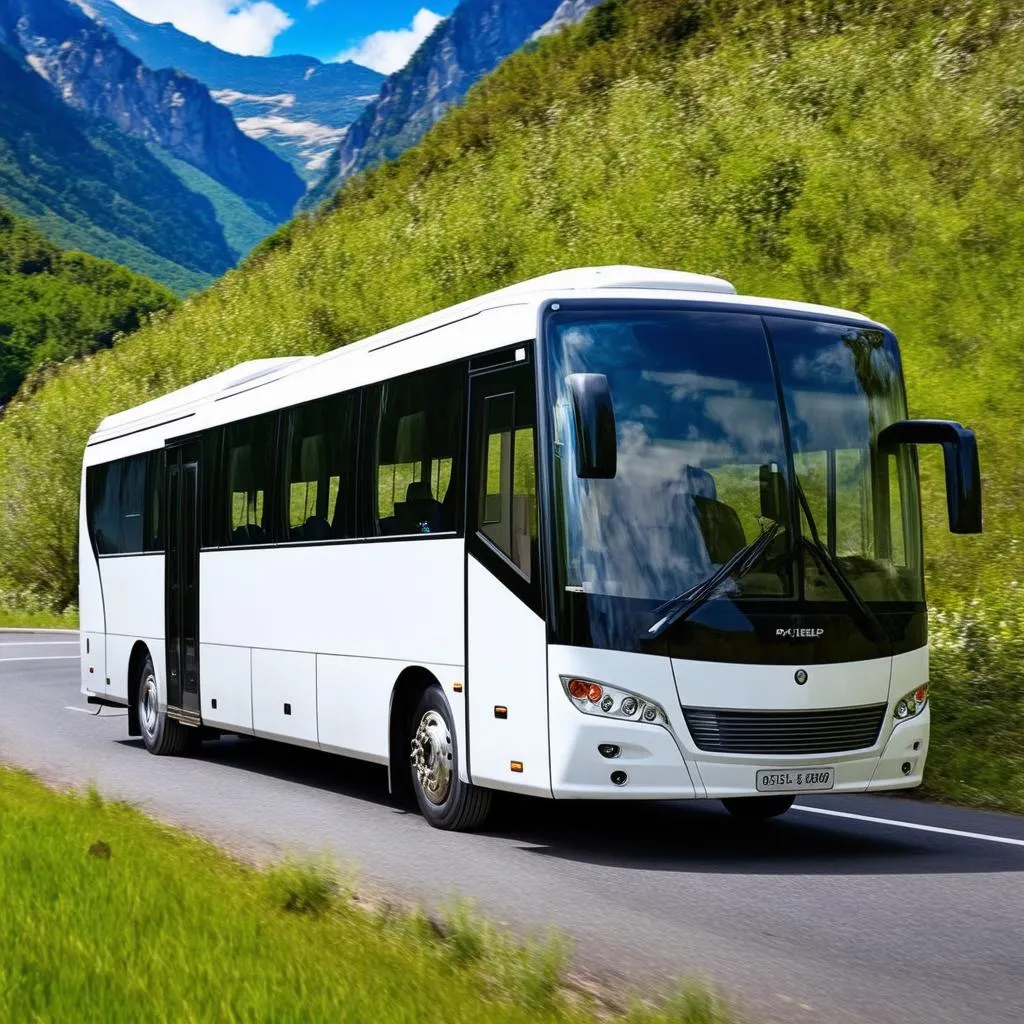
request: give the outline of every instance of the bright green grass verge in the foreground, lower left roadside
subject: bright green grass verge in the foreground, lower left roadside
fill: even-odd
[[[3,768],[0,863],[0,1021],[584,1024],[602,1009],[566,997],[557,940],[520,945],[465,907],[367,907],[329,862],[259,871]],[[697,992],[617,1019],[727,1018]]]

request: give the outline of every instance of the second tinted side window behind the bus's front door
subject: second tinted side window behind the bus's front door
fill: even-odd
[[[288,413],[284,509],[289,540],[351,536],[347,510],[357,407],[357,396],[345,394]]]

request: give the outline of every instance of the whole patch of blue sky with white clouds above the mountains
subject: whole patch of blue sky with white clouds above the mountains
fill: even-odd
[[[85,0],[87,2],[87,0]],[[115,0],[234,53],[307,53],[397,71],[458,0]]]

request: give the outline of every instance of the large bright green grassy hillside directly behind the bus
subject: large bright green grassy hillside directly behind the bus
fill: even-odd
[[[557,267],[722,274],[888,323],[912,414],[977,429],[982,538],[947,535],[939,457],[923,454],[931,777],[1024,809],[1021,69],[1007,0],[609,0],[177,314],[13,409],[0,574],[57,605],[74,593],[80,446],[110,411]]]

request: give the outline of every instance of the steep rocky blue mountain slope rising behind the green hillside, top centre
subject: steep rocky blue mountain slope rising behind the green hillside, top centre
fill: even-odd
[[[403,153],[510,53],[579,20],[595,2],[462,0],[348,129],[304,205],[314,207],[353,174]]]

